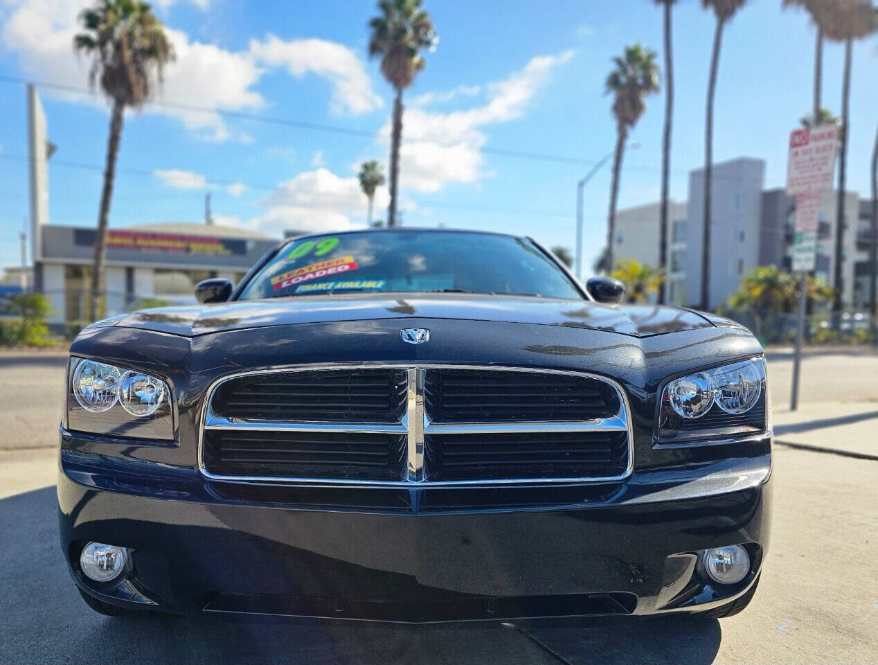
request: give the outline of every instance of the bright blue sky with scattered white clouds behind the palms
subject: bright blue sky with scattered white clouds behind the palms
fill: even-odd
[[[0,0],[0,76],[86,88],[69,44],[79,0]],[[406,92],[401,183],[404,223],[485,228],[573,246],[575,183],[588,164],[522,159],[514,150],[595,162],[613,148],[603,82],[610,58],[636,41],[659,52],[659,7],[644,0],[425,0],[440,41]],[[363,159],[387,163],[392,90],[366,57],[371,2],[162,0],[177,61],[156,101],[129,113],[111,226],[199,221],[205,192],[222,224],[262,229],[364,226],[356,184]],[[674,9],[675,115],[671,192],[703,161],[705,89],[714,19],[701,3]],[[788,132],[810,110],[814,32],[780,0],[751,0],[723,38],[714,156],[766,160],[782,186]],[[843,48],[824,48],[824,105],[840,110]],[[854,48],[849,188],[866,196],[878,122],[878,40]],[[103,100],[41,90],[49,135],[50,215],[97,220],[108,115]],[[176,104],[176,106],[175,106]],[[195,105],[194,111],[179,105]],[[289,119],[327,132],[241,119],[215,110]],[[659,197],[664,98],[647,112],[626,156],[621,207]],[[0,82],[0,266],[18,264],[28,212],[25,90]],[[75,166],[76,164],[76,166]],[[586,191],[590,265],[605,237],[609,169]],[[378,192],[383,216],[386,192]]]

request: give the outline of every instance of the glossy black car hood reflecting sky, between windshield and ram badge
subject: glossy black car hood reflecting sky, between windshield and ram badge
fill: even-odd
[[[92,325],[199,336],[297,323],[409,318],[530,323],[607,330],[635,337],[714,327],[714,323],[702,314],[680,307],[607,305],[586,300],[469,293],[360,293],[239,300],[214,305],[144,309]]]

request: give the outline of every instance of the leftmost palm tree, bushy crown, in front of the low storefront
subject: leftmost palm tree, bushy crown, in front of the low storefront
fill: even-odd
[[[162,82],[162,70],[173,61],[174,51],[162,21],[149,4],[140,0],[98,0],[94,7],[83,10],[79,19],[84,32],[74,37],[74,49],[91,61],[91,86],[99,84],[112,102],[104,190],[97,213],[95,261],[91,269],[89,317],[94,321],[103,309],[106,231],[125,108],[136,109],[146,104],[155,83]]]

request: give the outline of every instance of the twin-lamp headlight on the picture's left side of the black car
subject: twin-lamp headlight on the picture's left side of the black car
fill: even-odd
[[[97,360],[70,358],[67,427],[119,437],[173,439],[170,389],[162,379]]]

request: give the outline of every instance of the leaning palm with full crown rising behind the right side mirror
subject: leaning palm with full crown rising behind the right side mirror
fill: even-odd
[[[612,94],[613,116],[615,118],[615,155],[613,158],[613,180],[609,194],[609,215],[607,224],[607,264],[613,268],[613,236],[615,235],[615,204],[619,195],[619,173],[625,152],[628,133],[637,125],[637,120],[646,111],[644,98],[659,90],[659,68],[655,63],[656,53],[635,44],[625,47],[623,56],[613,58],[615,68],[607,76],[607,94]]]

